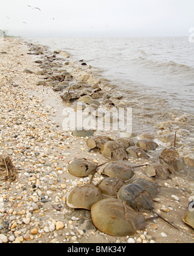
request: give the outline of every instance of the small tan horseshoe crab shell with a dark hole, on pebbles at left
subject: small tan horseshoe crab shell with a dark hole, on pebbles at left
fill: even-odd
[[[67,167],[70,174],[76,177],[89,176],[96,169],[96,165],[85,158],[78,158],[72,161]]]

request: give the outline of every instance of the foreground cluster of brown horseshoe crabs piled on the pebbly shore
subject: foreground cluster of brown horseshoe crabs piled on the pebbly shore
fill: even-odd
[[[129,144],[129,139],[114,141],[105,135],[89,137],[87,146],[100,150],[103,156],[111,161],[96,165],[85,158],[77,158],[69,164],[68,170],[73,176],[85,177],[92,174],[92,177],[89,183],[77,186],[67,194],[67,206],[91,211],[94,226],[103,233],[115,237],[134,235],[136,230],[144,229],[147,221],[152,218],[160,218],[171,227],[178,229],[154,211],[154,198],[160,192],[160,186],[156,182],[142,178],[135,180],[135,169],[142,166],[146,167],[147,176],[166,180],[173,172],[171,165],[175,159],[173,161],[173,157],[167,155],[169,151],[167,154],[164,151],[160,158],[162,161],[165,159],[166,165],[167,157],[170,158],[171,165],[168,163],[168,167],[160,163],[131,166],[128,161],[127,163],[124,161],[128,159],[128,154],[147,158],[149,157],[146,154],[147,147],[149,150],[155,150],[158,145],[149,139],[140,140],[138,146]],[[100,167],[102,167],[100,172],[105,178],[98,185],[93,185],[92,178]],[[152,217],[146,217],[143,213],[151,213]],[[183,221],[193,227],[194,211],[187,211]]]

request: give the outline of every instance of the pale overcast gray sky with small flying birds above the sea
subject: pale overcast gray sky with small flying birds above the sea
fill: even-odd
[[[194,27],[193,0],[0,0],[0,6],[0,28],[14,36],[188,36]]]

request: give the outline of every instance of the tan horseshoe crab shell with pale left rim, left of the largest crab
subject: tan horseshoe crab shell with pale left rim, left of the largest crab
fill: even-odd
[[[74,209],[91,210],[94,203],[102,200],[102,192],[94,185],[87,184],[81,187],[75,187],[69,192],[66,199],[66,204]]]

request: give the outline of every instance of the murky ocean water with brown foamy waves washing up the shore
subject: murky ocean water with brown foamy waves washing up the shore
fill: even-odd
[[[74,77],[98,77],[133,109],[133,132],[154,133],[194,159],[194,43],[188,38],[28,38],[60,50]],[[64,54],[63,54],[64,53]],[[67,58],[67,56],[69,58]],[[38,58],[41,58],[38,56]],[[81,66],[79,60],[87,63]],[[88,80],[93,83],[96,80]],[[120,100],[118,100],[119,104]]]

